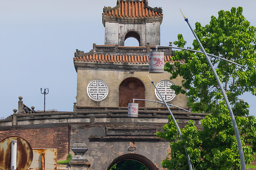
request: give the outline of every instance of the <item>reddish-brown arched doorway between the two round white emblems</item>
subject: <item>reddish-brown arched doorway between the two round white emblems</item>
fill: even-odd
[[[127,78],[119,86],[119,107],[128,107],[132,99],[145,99],[145,86],[136,78]],[[145,107],[145,101],[137,100],[139,107]]]

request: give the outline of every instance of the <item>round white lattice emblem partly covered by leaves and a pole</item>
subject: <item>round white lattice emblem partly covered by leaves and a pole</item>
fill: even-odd
[[[160,81],[156,87],[159,90],[159,92],[161,93],[161,95],[163,96],[165,101],[171,101],[172,99],[174,99],[175,97],[175,93],[174,90],[172,90],[170,87],[172,85],[175,85],[172,81],[170,80],[162,80]],[[156,97],[162,101],[161,96],[158,94],[158,92],[155,89],[155,95]]]

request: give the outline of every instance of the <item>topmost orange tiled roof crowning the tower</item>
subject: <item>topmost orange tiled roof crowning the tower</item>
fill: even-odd
[[[113,8],[105,7],[103,16],[115,18],[156,18],[163,17],[160,8],[151,8],[146,4],[146,1],[126,0],[120,1]]]

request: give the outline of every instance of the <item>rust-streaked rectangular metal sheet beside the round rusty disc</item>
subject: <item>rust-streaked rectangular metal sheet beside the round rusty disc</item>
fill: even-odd
[[[57,170],[57,149],[33,149],[29,170]]]

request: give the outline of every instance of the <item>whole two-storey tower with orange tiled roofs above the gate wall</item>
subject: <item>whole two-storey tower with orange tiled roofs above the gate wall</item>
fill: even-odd
[[[115,7],[104,7],[102,22],[105,45],[93,44],[84,53],[76,50],[77,108],[127,107],[132,99],[161,101],[150,78],[162,91],[167,103],[187,108],[185,95],[175,96],[172,84],[181,86],[181,78],[170,81],[170,73],[149,74],[148,53],[160,45],[161,7],[150,7],[146,0],[118,0]],[[127,38],[139,41],[138,47],[126,47]],[[171,44],[170,44],[171,46]],[[165,62],[173,64],[171,48],[161,48]],[[136,101],[139,107],[165,107]]]

